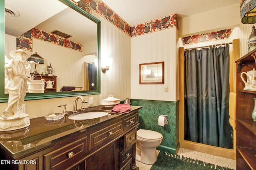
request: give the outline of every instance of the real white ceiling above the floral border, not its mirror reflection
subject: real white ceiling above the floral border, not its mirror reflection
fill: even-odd
[[[240,4],[241,0],[102,0],[131,26],[178,14],[192,16],[202,12]]]

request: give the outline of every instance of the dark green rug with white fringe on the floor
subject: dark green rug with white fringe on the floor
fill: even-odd
[[[185,158],[179,155],[162,152],[158,154],[156,162],[150,170],[232,170],[230,168],[215,166],[200,160]]]

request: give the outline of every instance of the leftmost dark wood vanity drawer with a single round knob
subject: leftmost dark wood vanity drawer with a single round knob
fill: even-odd
[[[55,170],[64,169],[68,166],[75,164],[77,161],[81,160],[83,156],[86,155],[86,141],[87,137],[83,137],[78,141],[74,141],[61,147],[59,144],[58,148],[53,147],[52,152],[48,152],[43,155],[44,169]]]

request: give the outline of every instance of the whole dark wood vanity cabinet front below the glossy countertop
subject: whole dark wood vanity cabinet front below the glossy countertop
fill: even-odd
[[[103,118],[107,120],[103,121],[101,118],[96,118],[93,121],[100,121],[99,123],[84,129],[72,127],[74,133],[58,138],[56,142],[52,141],[50,145],[29,152],[26,156],[14,158],[15,160],[29,160],[32,163],[16,164],[16,166],[13,164],[5,165],[4,168],[11,168],[12,170],[138,169],[135,162],[135,152],[140,107],[132,107],[136,109],[130,113],[107,115],[106,118]],[[90,121],[80,123],[90,124]],[[73,125],[73,122],[70,125]],[[66,128],[70,129],[69,127]],[[2,150],[1,146],[1,152]],[[4,155],[1,155],[1,159],[13,158],[5,152]],[[2,169],[1,166],[0,169]]]

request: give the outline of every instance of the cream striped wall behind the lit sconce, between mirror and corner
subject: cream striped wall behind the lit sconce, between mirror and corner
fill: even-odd
[[[100,17],[101,58],[112,57],[113,64],[101,72],[100,100],[112,94],[114,98],[131,98],[131,38],[116,26]]]

